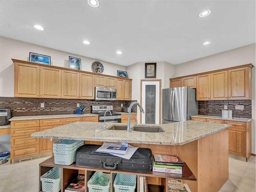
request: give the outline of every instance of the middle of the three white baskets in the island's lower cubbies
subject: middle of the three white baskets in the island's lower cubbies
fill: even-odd
[[[102,185],[100,180],[106,180],[108,184]],[[91,179],[87,182],[89,192],[110,192],[110,174],[95,172]]]

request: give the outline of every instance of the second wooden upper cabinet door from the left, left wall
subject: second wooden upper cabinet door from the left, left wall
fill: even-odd
[[[40,67],[40,97],[61,98],[61,70]]]

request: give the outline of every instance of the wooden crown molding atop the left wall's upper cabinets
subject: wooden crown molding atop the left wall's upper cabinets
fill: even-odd
[[[41,67],[49,67],[49,68],[55,68],[55,69],[61,69],[61,70],[67,70],[67,71],[74,71],[74,72],[80,72],[80,73],[88,73],[92,75],[98,75],[98,76],[104,76],[104,77],[114,77],[116,79],[123,79],[123,80],[133,80],[133,79],[128,79],[124,77],[117,77],[113,75],[105,75],[105,74],[99,74],[99,73],[93,73],[89,71],[80,71],[80,70],[75,70],[75,69],[69,69],[69,68],[63,68],[63,67],[57,67],[57,66],[46,66],[43,64],[35,63],[35,62],[30,62],[30,61],[25,61],[25,60],[19,60],[19,59],[12,59],[13,63],[25,63],[33,66],[41,66]]]

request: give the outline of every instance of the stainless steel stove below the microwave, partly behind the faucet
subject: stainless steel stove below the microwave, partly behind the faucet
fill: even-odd
[[[113,112],[113,105],[92,105],[92,113],[99,115],[99,122],[104,122],[104,113],[105,111],[111,111],[106,113],[106,122],[121,122],[121,114]]]

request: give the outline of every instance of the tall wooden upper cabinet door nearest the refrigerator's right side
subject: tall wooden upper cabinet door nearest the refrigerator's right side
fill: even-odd
[[[197,76],[197,100],[210,100],[210,74]]]

